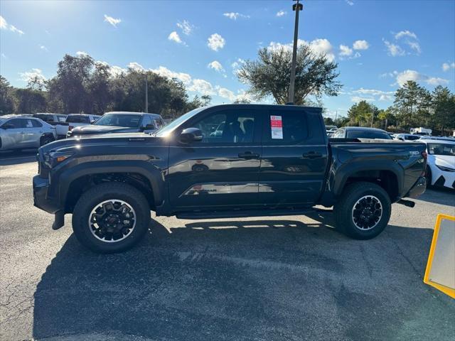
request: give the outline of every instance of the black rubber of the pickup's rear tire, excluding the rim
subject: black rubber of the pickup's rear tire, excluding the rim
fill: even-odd
[[[373,229],[368,230],[359,229],[357,226],[355,226],[352,216],[352,210],[355,205],[355,202],[357,202],[360,199],[360,197],[364,197],[365,195],[374,195],[375,197],[378,198],[382,205],[382,216],[378,224],[376,224],[376,226],[373,227]],[[385,190],[382,190],[382,188],[376,185],[365,186],[364,188],[355,190],[353,191],[353,193],[350,193],[350,195],[348,195],[348,197],[346,198],[345,207],[346,207],[345,212],[343,212],[344,216],[343,222],[344,224],[346,224],[344,227],[344,231],[350,237],[353,237],[355,239],[371,239],[380,234],[382,230],[385,229],[385,227],[387,226],[390,220],[390,213],[392,210],[390,198],[388,197],[387,193],[385,192]]]

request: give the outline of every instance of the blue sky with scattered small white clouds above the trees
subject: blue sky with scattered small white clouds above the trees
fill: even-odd
[[[261,47],[293,38],[293,1],[0,2],[0,73],[25,87],[55,75],[65,53],[178,77],[189,94],[232,102],[235,77]],[[380,108],[406,80],[455,90],[455,1],[303,1],[299,39],[335,60],[344,87],[324,97],[339,115],[367,99]],[[132,64],[130,64],[132,63]]]

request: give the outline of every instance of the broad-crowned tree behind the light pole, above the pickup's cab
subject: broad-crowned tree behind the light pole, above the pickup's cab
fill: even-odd
[[[288,102],[291,80],[292,53],[289,49],[262,48],[258,60],[247,60],[237,72],[240,82],[250,85],[250,94],[256,99],[272,96],[277,104]],[[322,94],[336,96],[341,83],[336,80],[337,63],[325,55],[314,53],[308,45],[299,47],[296,58],[295,104],[303,104],[306,97]]]

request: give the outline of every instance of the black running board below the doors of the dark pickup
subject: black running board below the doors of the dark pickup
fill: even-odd
[[[178,219],[220,219],[220,218],[248,218],[248,217],[271,217],[281,215],[306,215],[314,212],[314,208],[280,210],[264,208],[264,210],[233,210],[233,211],[198,211],[198,212],[179,212],[176,214]]]

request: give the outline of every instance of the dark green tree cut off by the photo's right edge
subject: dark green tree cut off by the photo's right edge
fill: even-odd
[[[444,135],[444,129],[455,128],[455,95],[451,94],[447,87],[438,85],[432,92],[432,121],[434,126],[441,129]]]

